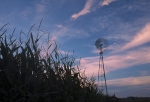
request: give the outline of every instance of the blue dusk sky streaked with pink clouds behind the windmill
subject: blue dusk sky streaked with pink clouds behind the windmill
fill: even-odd
[[[110,95],[150,97],[150,0],[0,0],[0,27],[9,23],[7,33],[27,33],[42,19],[41,29],[60,53],[81,58],[87,77],[97,77],[95,41],[108,41],[103,56]]]

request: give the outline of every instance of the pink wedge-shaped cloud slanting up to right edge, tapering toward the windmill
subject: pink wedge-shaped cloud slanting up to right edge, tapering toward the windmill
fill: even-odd
[[[138,32],[129,43],[125,44],[121,50],[140,46],[147,42],[150,42],[150,23],[146,24],[146,26],[140,32]]]

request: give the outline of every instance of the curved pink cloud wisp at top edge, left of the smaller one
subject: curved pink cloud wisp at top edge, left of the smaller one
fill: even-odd
[[[93,5],[93,2],[94,2],[94,0],[87,0],[84,8],[79,13],[73,14],[71,16],[71,19],[72,20],[76,20],[78,17],[83,16],[83,15],[89,13],[90,10],[91,10],[91,7]]]

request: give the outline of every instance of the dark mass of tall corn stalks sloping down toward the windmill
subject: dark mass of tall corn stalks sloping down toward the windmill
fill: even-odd
[[[78,65],[74,66],[72,55],[59,54],[57,45],[51,52],[51,44],[39,48],[39,29],[33,37],[31,27],[23,41],[14,38],[15,30],[7,36],[4,28],[0,28],[0,101],[110,102],[94,79],[88,80]]]

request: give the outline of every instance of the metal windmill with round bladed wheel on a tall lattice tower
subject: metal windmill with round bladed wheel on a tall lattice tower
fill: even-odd
[[[99,51],[98,87],[100,87],[100,90],[102,92],[108,95],[104,61],[103,61],[103,52],[108,47],[108,42],[104,38],[98,38],[95,42],[95,46]]]

